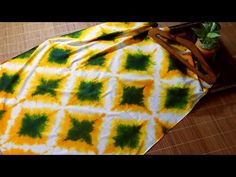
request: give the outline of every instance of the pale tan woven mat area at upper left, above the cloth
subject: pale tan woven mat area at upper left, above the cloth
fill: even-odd
[[[98,23],[0,23],[0,62],[27,51],[50,37]]]

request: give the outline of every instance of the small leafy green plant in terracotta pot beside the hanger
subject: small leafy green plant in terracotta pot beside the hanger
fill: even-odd
[[[217,22],[201,23],[200,28],[192,28],[197,35],[196,46],[206,59],[213,58],[219,49],[220,24]]]

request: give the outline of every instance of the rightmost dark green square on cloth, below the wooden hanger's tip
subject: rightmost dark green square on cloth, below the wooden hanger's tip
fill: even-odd
[[[166,108],[184,109],[188,104],[189,88],[173,87],[167,90]]]

